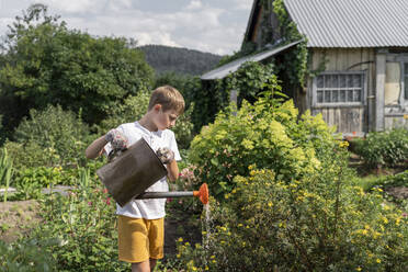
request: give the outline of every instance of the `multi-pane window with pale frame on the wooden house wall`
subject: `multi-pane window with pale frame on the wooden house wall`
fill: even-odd
[[[361,104],[363,72],[322,73],[315,79],[315,104]]]

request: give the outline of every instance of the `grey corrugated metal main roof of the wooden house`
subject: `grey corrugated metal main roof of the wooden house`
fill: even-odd
[[[408,0],[284,0],[308,47],[408,47]]]

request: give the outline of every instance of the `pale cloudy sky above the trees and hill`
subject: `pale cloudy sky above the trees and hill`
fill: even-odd
[[[32,3],[48,7],[69,29],[230,55],[239,50],[252,0],[0,0],[0,35]]]

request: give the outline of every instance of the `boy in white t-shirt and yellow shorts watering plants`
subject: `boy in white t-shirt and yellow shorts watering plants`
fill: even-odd
[[[177,160],[180,154],[174,134],[168,128],[175,124],[184,111],[184,99],[180,92],[163,86],[156,89],[150,97],[147,113],[135,123],[122,124],[116,129],[95,139],[86,150],[89,159],[97,158],[103,151],[107,155],[113,149],[125,149],[141,137],[156,151],[165,154],[170,181],[179,177]],[[163,151],[165,150],[165,151]],[[146,190],[167,192],[166,177]],[[163,258],[166,200],[133,200],[125,206],[116,205],[118,259],[132,263],[132,272],[152,271],[158,259]]]

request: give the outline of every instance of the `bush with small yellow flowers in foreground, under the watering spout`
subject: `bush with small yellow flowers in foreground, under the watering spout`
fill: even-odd
[[[384,204],[381,194],[348,185],[345,163],[332,162],[290,184],[264,169],[237,177],[230,201],[211,204],[211,227],[203,245],[179,245],[183,267],[189,271],[405,271],[407,217]]]

